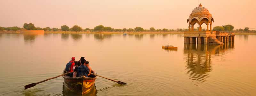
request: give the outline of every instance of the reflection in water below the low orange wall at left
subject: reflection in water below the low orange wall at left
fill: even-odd
[[[32,44],[35,41],[36,36],[39,35],[44,35],[44,33],[24,33],[24,42]]]

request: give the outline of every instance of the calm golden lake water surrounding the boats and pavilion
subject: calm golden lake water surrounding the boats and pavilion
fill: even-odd
[[[1,96],[70,96],[60,75],[84,56],[99,75],[89,96],[255,96],[256,35],[225,45],[184,44],[175,34],[0,34]],[[178,50],[164,50],[173,44]]]

